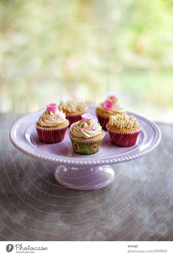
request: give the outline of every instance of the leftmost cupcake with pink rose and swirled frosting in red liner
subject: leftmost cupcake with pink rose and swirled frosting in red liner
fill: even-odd
[[[51,103],[47,105],[35,126],[41,142],[57,143],[64,139],[68,125],[65,113],[57,109],[55,103]]]

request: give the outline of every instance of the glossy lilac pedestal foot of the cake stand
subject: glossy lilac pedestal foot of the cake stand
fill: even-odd
[[[58,166],[55,179],[59,184],[76,190],[98,190],[113,182],[114,170],[110,165]]]

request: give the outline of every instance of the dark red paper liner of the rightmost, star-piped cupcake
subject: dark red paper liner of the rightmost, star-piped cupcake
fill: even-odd
[[[135,145],[140,131],[141,128],[139,128],[137,131],[132,132],[119,132],[108,129],[112,144],[118,147],[132,147],[133,145]]]

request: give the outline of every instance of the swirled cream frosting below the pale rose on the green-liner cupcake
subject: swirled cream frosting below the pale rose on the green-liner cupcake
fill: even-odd
[[[80,120],[70,126],[71,134],[73,134],[75,137],[84,137],[86,139],[100,134],[101,131],[102,126],[94,120],[89,121],[88,123]]]

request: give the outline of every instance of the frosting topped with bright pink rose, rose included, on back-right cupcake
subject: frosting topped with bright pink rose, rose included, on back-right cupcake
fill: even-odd
[[[118,113],[126,112],[126,110],[124,109],[124,107],[120,103],[120,100],[115,96],[108,97],[107,100],[105,100],[105,102],[100,103],[98,105],[98,108],[101,111],[107,112],[111,115],[114,115],[116,112],[118,112]]]

